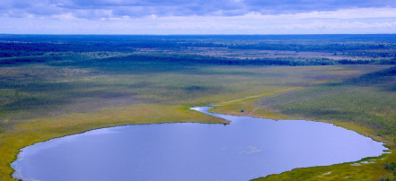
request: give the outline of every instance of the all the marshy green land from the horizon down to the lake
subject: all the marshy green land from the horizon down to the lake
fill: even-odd
[[[0,180],[35,142],[115,125],[225,123],[189,110],[207,105],[330,122],[392,152],[258,179],[395,178],[395,35],[0,35],[0,47]]]

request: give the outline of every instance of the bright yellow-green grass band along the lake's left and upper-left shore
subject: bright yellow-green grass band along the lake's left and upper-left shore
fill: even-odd
[[[27,123],[15,125],[13,130],[1,134],[0,180],[11,179],[13,169],[9,167],[9,164],[15,159],[19,148],[35,142],[44,142],[51,138],[79,134],[101,127],[170,122],[228,123],[225,120],[189,110],[187,107],[164,105],[106,108],[85,114],[75,113],[33,119]]]

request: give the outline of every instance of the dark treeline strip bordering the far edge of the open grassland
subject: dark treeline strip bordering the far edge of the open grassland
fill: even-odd
[[[341,59],[334,60],[330,58],[320,57],[278,57],[278,58],[227,58],[216,56],[199,56],[188,54],[132,54],[129,56],[116,56],[109,58],[102,58],[100,60],[89,58],[86,56],[29,56],[29,57],[13,57],[0,59],[1,65],[21,65],[30,63],[47,63],[49,65],[90,65],[98,62],[112,62],[112,61],[136,61],[136,62],[163,62],[169,64],[180,65],[396,65],[396,58],[382,60],[349,60]],[[65,62],[65,60],[67,60]]]

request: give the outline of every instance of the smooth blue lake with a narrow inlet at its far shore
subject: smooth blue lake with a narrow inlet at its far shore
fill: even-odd
[[[208,113],[230,125],[126,125],[25,147],[23,180],[249,180],[383,154],[381,142],[339,126]]]

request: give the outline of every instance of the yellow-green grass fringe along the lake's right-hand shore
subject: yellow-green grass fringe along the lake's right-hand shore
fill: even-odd
[[[239,116],[249,115],[276,120],[302,118],[282,115],[279,112],[260,108],[257,104],[257,100],[266,96],[268,95],[262,95],[262,97],[259,97],[258,95],[258,97],[254,97],[253,99],[235,99],[232,103],[221,104],[211,111],[222,114],[233,114]],[[242,108],[245,109],[245,112],[241,112]],[[373,129],[364,125],[356,125],[355,123],[337,120],[315,121],[332,123],[371,137],[376,141],[385,142],[385,145],[390,149],[390,153],[383,154],[381,157],[377,158],[365,158],[357,160],[356,162],[341,163],[331,166],[295,168],[281,174],[269,175],[268,177],[260,177],[253,180],[381,180],[388,177],[394,177],[392,172],[384,168],[385,163],[390,163],[396,160],[394,142],[392,142],[392,140],[373,134]]]

